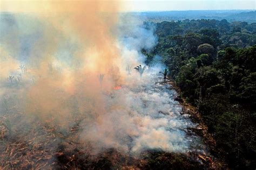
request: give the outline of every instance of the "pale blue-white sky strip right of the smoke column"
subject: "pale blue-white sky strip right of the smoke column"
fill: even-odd
[[[244,0],[133,0],[126,1],[126,11],[169,11],[169,10],[233,10],[256,8],[256,1]]]

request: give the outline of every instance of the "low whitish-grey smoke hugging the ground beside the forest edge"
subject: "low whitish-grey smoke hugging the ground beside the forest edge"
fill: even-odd
[[[149,88],[153,88],[150,87]],[[123,88],[114,93],[100,123],[86,121],[84,136],[98,146],[139,153],[147,148],[185,152],[188,122],[172,109],[170,94],[159,91],[133,91]],[[175,102],[174,102],[175,103]],[[95,135],[97,134],[97,135]]]

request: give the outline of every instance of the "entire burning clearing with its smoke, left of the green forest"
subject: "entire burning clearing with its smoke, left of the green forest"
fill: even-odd
[[[157,38],[123,29],[120,4],[33,2],[22,15],[11,5],[1,14],[1,168],[213,167],[164,66],[140,65]]]

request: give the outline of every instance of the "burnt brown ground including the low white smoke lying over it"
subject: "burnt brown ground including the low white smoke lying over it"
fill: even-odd
[[[208,157],[206,147],[190,131],[196,124],[174,101],[176,91],[157,74],[146,75],[155,81],[102,91],[106,114],[73,114],[68,128],[54,117],[24,119],[15,95],[22,89],[11,87],[2,98],[1,167],[153,168],[157,160],[163,168],[207,167],[198,158]]]

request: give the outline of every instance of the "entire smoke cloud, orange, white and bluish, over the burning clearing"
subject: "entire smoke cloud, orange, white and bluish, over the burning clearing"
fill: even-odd
[[[80,122],[77,142],[91,153],[189,150],[191,122],[179,114],[175,91],[156,84],[163,66],[145,67],[141,77],[133,69],[145,66],[140,51],[157,44],[154,27],[119,18],[120,5],[46,1],[27,13],[1,12],[0,115],[19,112],[13,126],[41,122],[63,133]]]

